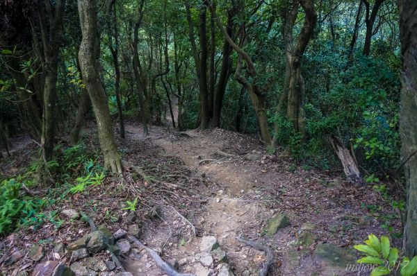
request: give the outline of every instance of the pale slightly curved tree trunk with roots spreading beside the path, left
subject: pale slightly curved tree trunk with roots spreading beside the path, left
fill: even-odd
[[[97,36],[97,13],[95,0],[79,0],[79,17],[83,40],[79,50],[81,71],[88,94],[92,102],[92,108],[97,120],[97,130],[101,150],[104,155],[104,167],[111,169],[113,173],[122,173],[120,155],[117,153],[113,128],[111,123],[108,101],[98,74],[99,68],[99,37]]]

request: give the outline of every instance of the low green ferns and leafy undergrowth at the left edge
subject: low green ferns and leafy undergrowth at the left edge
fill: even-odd
[[[42,167],[49,177],[47,193],[33,193],[42,187],[38,175]],[[58,217],[58,210],[44,212],[45,207],[55,204],[67,193],[79,193],[90,186],[99,185],[106,172],[98,163],[96,153],[84,144],[54,149],[54,159],[47,164],[36,160],[28,164],[22,173],[0,182],[0,235],[8,234],[17,227],[38,229],[45,222],[56,228],[64,221]],[[32,192],[28,192],[32,191]]]

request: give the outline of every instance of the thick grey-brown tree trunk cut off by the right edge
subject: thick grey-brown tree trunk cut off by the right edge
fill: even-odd
[[[417,255],[417,1],[398,0],[402,53],[400,134],[402,162],[407,186],[407,218],[404,252]]]

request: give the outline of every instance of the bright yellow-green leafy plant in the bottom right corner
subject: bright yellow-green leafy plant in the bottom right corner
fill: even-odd
[[[398,248],[391,247],[387,236],[382,236],[379,240],[377,236],[370,234],[365,243],[354,245],[353,248],[365,255],[357,261],[358,264],[375,265],[370,276],[389,275],[398,269],[401,276],[417,274],[417,256],[411,261],[407,257],[400,258]]]

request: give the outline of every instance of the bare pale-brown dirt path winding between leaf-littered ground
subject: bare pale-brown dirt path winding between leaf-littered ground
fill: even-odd
[[[197,256],[198,263],[199,236],[215,236],[222,250],[227,252],[229,264],[236,275],[257,275],[261,263],[266,260],[265,254],[244,247],[236,237],[245,236],[248,230],[255,231],[254,234],[259,231],[257,226],[261,224],[259,213],[263,210],[263,201],[243,197],[261,188],[256,181],[256,174],[261,172],[248,171],[240,166],[236,163],[238,155],[224,157],[216,154],[227,145],[221,139],[213,139],[198,130],[166,132],[163,128],[153,126],[149,137],[143,137],[140,127],[128,123],[126,131],[132,139],[152,139],[154,144],[163,149],[164,155],[180,157],[189,171],[202,175],[207,180],[206,185],[211,185],[206,187],[209,192],[195,191],[206,199],[204,212],[193,221],[197,228],[197,239],[181,248],[168,249],[168,255],[181,257],[185,254],[191,262]],[[157,238],[154,236],[155,240]],[[180,270],[195,275],[217,275],[211,274],[213,269],[194,263]],[[134,270],[136,267],[133,266]]]

